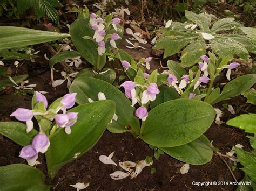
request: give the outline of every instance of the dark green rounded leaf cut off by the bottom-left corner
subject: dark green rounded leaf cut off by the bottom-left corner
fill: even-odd
[[[12,164],[0,167],[1,190],[50,190],[44,184],[44,173],[35,167]]]

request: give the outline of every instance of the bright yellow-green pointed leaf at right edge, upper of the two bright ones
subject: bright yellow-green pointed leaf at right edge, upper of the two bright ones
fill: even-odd
[[[242,114],[227,121],[227,125],[244,129],[245,132],[256,135],[256,114]]]

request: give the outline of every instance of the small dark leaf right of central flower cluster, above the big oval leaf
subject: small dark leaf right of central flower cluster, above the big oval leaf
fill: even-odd
[[[160,93],[157,94],[156,100],[153,102],[150,102],[150,108],[153,109],[154,107],[157,107],[157,105],[170,101],[175,100],[179,98],[179,94],[174,88],[170,88],[167,86],[159,87]]]

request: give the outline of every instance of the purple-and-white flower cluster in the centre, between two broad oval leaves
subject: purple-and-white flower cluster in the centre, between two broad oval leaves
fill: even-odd
[[[145,121],[148,115],[147,104],[149,101],[156,100],[156,95],[160,93],[156,83],[150,83],[147,81],[149,74],[144,73],[145,84],[136,84],[133,81],[125,81],[120,86],[124,88],[125,96],[131,99],[133,107],[136,103],[139,103],[141,106],[136,110],[135,115]],[[136,90],[138,87],[138,90]],[[139,93],[142,92],[142,93]]]

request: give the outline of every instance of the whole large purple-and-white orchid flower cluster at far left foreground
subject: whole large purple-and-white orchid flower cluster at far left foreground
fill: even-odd
[[[38,164],[38,153],[45,153],[50,146],[49,138],[55,135],[60,128],[65,128],[67,134],[71,133],[71,126],[77,121],[77,112],[66,112],[72,108],[76,102],[76,93],[66,94],[58,98],[48,107],[46,97],[36,91],[32,99],[32,110],[18,108],[10,116],[14,116],[18,121],[26,122],[26,132],[33,129],[32,118],[38,121],[39,133],[36,135],[31,145],[22,148],[19,157],[26,159],[30,166]],[[48,108],[48,110],[46,110]],[[59,113],[59,111],[62,111]],[[55,120],[55,123],[53,123]]]

